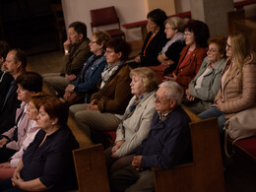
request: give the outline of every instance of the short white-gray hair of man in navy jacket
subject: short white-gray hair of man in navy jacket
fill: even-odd
[[[174,98],[177,101],[177,105],[181,104],[183,98],[183,89],[178,83],[173,81],[163,82],[159,86],[160,88],[164,88],[167,91],[165,92],[165,96],[167,98]]]

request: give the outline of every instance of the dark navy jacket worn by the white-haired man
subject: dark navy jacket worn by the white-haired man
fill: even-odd
[[[181,106],[174,108],[160,122],[156,112],[149,137],[137,151],[137,155],[143,156],[142,166],[168,169],[191,160],[189,121],[189,116]]]

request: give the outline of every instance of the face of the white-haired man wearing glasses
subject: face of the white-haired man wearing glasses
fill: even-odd
[[[170,104],[171,98],[165,96],[166,89],[160,88],[155,96],[156,110],[160,111],[161,114],[166,114],[171,111],[172,107]]]

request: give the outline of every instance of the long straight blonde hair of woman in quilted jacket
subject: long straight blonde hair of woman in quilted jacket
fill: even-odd
[[[227,76],[231,76],[237,69],[242,72],[244,60],[250,55],[250,44],[243,32],[233,32],[228,37],[231,45],[230,61],[233,62],[233,66]],[[242,73],[240,74],[242,76]]]

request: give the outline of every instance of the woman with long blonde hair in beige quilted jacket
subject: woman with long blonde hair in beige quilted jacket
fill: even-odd
[[[226,40],[226,57],[222,85],[215,103],[199,114],[201,118],[218,117],[221,141],[224,141],[224,122],[235,113],[255,106],[256,55],[242,32],[233,32]]]

